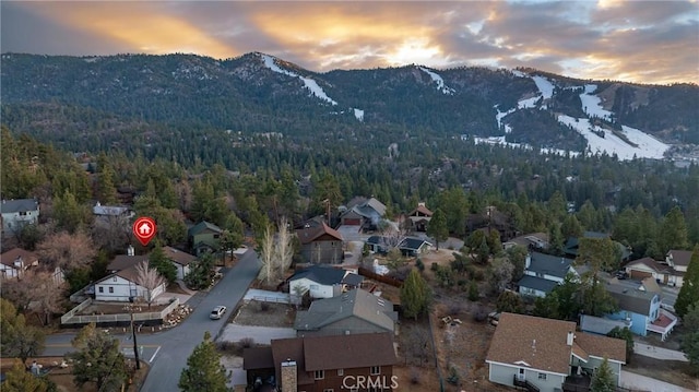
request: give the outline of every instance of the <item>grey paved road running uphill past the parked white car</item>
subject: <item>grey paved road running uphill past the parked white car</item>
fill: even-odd
[[[177,391],[177,382],[181,370],[187,366],[187,358],[194,347],[202,342],[204,331],[213,338],[227,323],[230,312],[245,295],[248,286],[260,271],[257,253],[248,250],[209,294],[198,293],[187,304],[194,311],[178,326],[154,334],[138,335],[139,346],[143,346],[142,359],[151,363],[151,370],[141,388],[142,392]],[[226,317],[221,320],[209,319],[214,306],[228,307]],[[70,341],[75,333],[60,333],[47,336],[45,356],[62,356],[73,351]],[[121,347],[128,357],[133,357],[133,342],[130,334],[119,334]]]

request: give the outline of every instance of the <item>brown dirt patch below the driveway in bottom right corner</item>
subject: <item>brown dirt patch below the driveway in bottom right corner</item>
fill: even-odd
[[[624,370],[699,391],[699,379],[689,376],[688,363],[660,360],[633,354]]]

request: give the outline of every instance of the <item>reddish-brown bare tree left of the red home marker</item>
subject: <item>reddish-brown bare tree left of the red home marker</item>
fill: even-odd
[[[90,265],[97,251],[92,238],[79,230],[75,234],[59,231],[48,236],[36,246],[36,253],[50,268],[72,270]]]

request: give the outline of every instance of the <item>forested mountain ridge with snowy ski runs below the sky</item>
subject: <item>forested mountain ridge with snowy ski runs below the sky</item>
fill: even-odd
[[[390,124],[621,158],[662,157],[629,142],[642,136],[638,132],[667,146],[648,139],[647,150],[699,144],[699,87],[691,83],[647,85],[531,69],[416,64],[321,73],[262,52],[226,60],[3,54],[1,62],[3,115],[55,103],[147,122],[253,132],[294,121],[328,129]],[[589,122],[587,128],[580,120]]]

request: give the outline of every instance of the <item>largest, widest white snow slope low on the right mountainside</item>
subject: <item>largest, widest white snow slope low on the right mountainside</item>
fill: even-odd
[[[633,159],[635,156],[638,158],[662,159],[665,151],[670,149],[667,144],[655,138],[626,126],[621,127],[621,132],[637,146],[627,143],[612,131],[591,124],[587,118],[560,115],[558,116],[558,122],[569,126],[582,134],[588,140],[588,147],[592,154],[616,154],[620,161]],[[604,134],[604,138],[600,136],[600,134]]]

